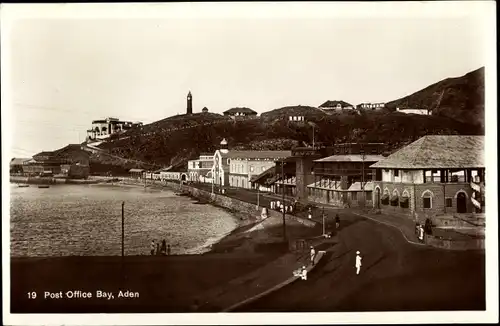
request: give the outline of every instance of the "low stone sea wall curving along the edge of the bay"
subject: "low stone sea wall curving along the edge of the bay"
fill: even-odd
[[[252,203],[247,203],[241,200],[238,200],[236,198],[231,198],[228,196],[220,195],[220,194],[212,194],[211,192],[194,188],[191,186],[187,185],[182,185],[180,186],[178,183],[173,183],[173,182],[165,182],[165,186],[174,190],[182,190],[183,192],[189,193],[191,196],[196,197],[198,199],[203,199],[210,201],[218,206],[230,209],[230,210],[235,210],[241,213],[249,214],[250,216],[253,216],[255,218],[260,218],[260,214],[262,212],[262,206],[257,207],[257,205],[252,204]],[[268,216],[269,217],[278,217],[281,218],[283,214],[278,211],[274,210],[269,210],[268,209]],[[300,223],[306,227],[313,228],[315,227],[318,223],[316,221],[311,221],[308,219],[303,219],[294,215],[286,214],[285,215],[285,220],[286,221],[292,221],[292,222],[297,222]]]

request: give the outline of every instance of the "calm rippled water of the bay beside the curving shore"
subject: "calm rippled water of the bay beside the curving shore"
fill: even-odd
[[[11,256],[145,255],[166,239],[172,254],[195,254],[237,227],[236,218],[169,190],[112,185],[11,184]]]

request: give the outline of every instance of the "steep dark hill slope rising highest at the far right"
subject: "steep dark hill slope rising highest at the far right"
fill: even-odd
[[[438,103],[439,106],[436,107]],[[433,109],[433,115],[484,128],[484,67],[461,77],[444,79],[416,93],[388,102],[386,107],[392,111],[397,107]]]

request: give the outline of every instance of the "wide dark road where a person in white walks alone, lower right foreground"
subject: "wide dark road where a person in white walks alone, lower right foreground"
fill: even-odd
[[[406,242],[391,227],[342,212],[339,240],[307,281],[297,281],[241,312],[485,309],[484,252]],[[363,257],[355,274],[356,251]]]

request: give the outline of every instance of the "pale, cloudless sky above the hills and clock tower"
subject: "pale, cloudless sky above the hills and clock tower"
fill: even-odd
[[[178,15],[14,20],[2,76],[12,156],[82,142],[95,119],[146,124],[185,113],[189,91],[194,112],[262,113],[327,100],[388,102],[485,66],[484,10],[393,5],[388,15],[362,4],[349,14],[333,5],[301,14],[288,5],[273,7],[275,15],[265,7],[231,12],[229,4],[205,15],[206,7],[177,4]]]

